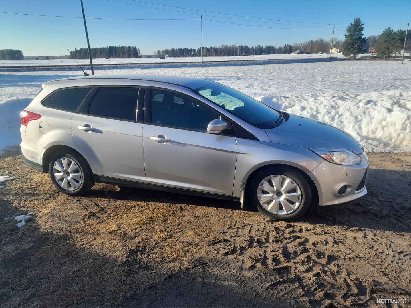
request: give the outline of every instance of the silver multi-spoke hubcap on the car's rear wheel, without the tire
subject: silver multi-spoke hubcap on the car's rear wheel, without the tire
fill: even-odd
[[[55,161],[53,174],[57,184],[68,191],[75,191],[83,182],[80,167],[75,161],[67,157],[62,157]]]

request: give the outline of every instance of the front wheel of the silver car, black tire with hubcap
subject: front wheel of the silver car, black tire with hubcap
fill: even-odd
[[[304,175],[284,167],[269,167],[256,173],[247,194],[259,213],[283,221],[303,215],[312,201]]]

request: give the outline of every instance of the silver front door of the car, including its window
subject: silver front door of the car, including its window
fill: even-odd
[[[207,133],[217,111],[179,92],[146,89],[144,116],[147,183],[232,195],[237,144],[230,127]]]

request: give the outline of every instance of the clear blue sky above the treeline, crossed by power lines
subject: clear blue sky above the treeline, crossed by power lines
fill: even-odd
[[[153,5],[146,2],[192,10]],[[140,48],[143,54],[152,54],[153,51],[164,48],[199,48],[201,46],[201,30],[200,16],[195,14],[197,11],[203,15],[203,46],[222,44],[282,46],[285,43],[300,43],[319,37],[330,39],[332,26],[329,26],[328,23],[335,24],[335,36],[344,39],[346,27],[355,17],[360,17],[365,23],[364,34],[368,36],[381,33],[388,25],[394,29],[406,29],[406,23],[411,19],[411,1],[409,0],[396,1],[395,5],[379,0],[315,2],[301,0],[145,0],[145,2],[83,0],[83,3],[86,17],[185,19],[87,19],[91,47],[132,45]],[[0,11],[82,16],[80,0],[2,0],[0,1]],[[266,19],[222,15],[206,11]],[[72,50],[75,47],[87,47],[82,18],[0,13],[0,29],[0,49],[20,49],[25,56],[65,55],[67,48]]]

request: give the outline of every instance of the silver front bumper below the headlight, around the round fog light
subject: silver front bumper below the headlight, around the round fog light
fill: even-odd
[[[367,194],[365,181],[368,176],[368,158],[365,154],[360,156],[362,161],[358,165],[337,165],[323,161],[308,173],[317,187],[319,205],[345,203]],[[347,186],[347,189],[339,194],[342,186]]]

